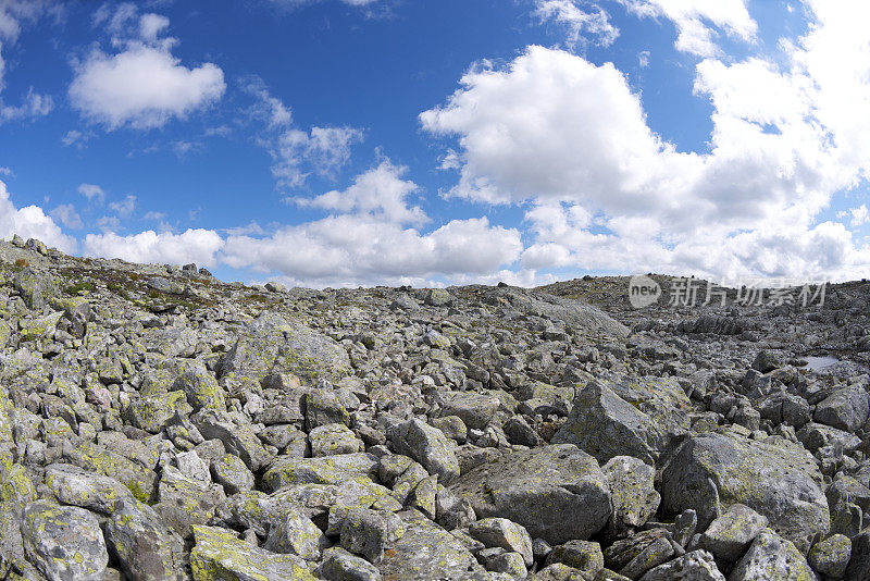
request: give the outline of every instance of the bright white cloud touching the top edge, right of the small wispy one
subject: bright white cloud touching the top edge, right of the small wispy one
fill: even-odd
[[[678,50],[698,57],[721,53],[714,37],[722,30],[734,38],[751,41],[758,24],[746,9],[747,0],[617,0],[638,16],[668,18],[676,27]]]

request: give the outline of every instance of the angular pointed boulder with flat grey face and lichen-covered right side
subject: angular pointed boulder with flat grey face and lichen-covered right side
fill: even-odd
[[[599,462],[634,456],[655,465],[671,438],[685,434],[689,399],[672,379],[589,382],[574,397],[554,444],[575,444]]]

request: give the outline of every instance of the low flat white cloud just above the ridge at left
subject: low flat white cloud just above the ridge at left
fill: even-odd
[[[187,230],[182,234],[154,231],[132,236],[114,232],[85,236],[85,254],[121,258],[128,262],[185,264],[196,262],[206,267],[217,263],[216,254],[223,247],[221,236],[208,230]]]

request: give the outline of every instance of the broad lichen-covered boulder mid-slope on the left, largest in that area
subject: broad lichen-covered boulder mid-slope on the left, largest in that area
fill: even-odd
[[[334,339],[299,321],[264,313],[239,333],[221,360],[220,375],[235,393],[259,385],[270,373],[293,373],[315,381],[337,379],[349,370],[347,351]]]

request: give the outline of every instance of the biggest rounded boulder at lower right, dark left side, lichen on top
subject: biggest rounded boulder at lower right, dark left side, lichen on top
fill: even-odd
[[[731,505],[744,504],[806,553],[831,527],[821,486],[816,462],[799,445],[708,432],[684,442],[664,467],[661,500],[666,514],[695,509],[699,530]]]

